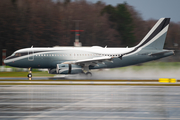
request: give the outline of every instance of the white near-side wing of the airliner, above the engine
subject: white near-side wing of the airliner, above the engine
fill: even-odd
[[[98,63],[103,63],[105,61],[111,61],[112,57],[110,56],[102,56],[102,57],[95,57],[92,59],[82,59],[77,61],[67,61],[62,64],[79,64],[79,65],[96,65]]]

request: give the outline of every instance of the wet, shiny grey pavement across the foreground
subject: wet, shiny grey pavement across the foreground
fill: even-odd
[[[0,120],[179,120],[179,113],[178,86],[0,86]]]

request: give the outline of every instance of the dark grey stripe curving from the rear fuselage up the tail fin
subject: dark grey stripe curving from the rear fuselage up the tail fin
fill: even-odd
[[[154,32],[142,43],[140,44],[139,46],[137,46],[134,50],[130,51],[130,52],[127,52],[127,53],[124,53],[121,55],[121,57],[123,55],[127,55],[127,54],[130,54],[130,53],[133,53],[135,51],[138,50],[138,48],[142,47],[143,45],[145,45],[146,43],[148,43],[150,40],[152,40],[152,38],[154,38],[159,32],[161,32],[170,22],[170,18],[165,18],[161,24],[154,30]]]

